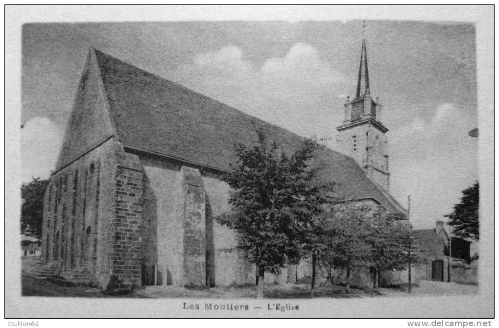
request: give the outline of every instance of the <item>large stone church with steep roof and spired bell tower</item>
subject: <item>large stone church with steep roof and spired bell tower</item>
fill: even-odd
[[[214,218],[230,210],[221,176],[235,145],[256,143],[257,130],[286,151],[303,140],[90,48],[45,192],[43,263],[113,292],[254,284],[236,232]],[[389,194],[388,130],[370,94],[365,38],[356,94],[336,130],[338,151],[316,153],[326,166],[321,178],[346,202],[405,215]]]

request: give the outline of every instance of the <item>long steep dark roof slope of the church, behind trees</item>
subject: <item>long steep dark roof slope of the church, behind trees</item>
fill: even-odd
[[[293,150],[302,137],[95,50],[117,139],[125,147],[221,170],[234,162],[235,145],[257,141],[255,130]],[[335,181],[345,199],[374,198],[393,213],[404,209],[387,197],[355,160],[321,147],[328,164],[321,178]]]

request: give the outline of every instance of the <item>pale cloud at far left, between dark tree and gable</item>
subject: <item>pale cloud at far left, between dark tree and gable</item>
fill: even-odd
[[[50,119],[37,116],[21,130],[22,181],[31,177],[47,178],[57,161],[62,129]]]

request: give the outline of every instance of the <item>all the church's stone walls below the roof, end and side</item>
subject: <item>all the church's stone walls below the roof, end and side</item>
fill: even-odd
[[[217,221],[230,210],[229,197],[220,172],[125,152],[110,139],[52,176],[43,256],[62,271],[86,270],[109,292],[254,284],[255,268],[237,248],[237,232]],[[266,273],[265,282],[306,278],[305,262]]]

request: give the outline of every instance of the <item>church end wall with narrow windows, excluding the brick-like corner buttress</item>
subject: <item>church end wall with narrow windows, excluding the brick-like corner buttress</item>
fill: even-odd
[[[50,177],[42,222],[42,258],[57,262],[62,272],[80,269],[98,275],[102,185],[110,164],[103,160],[112,148],[109,140]],[[103,181],[104,180],[104,181]]]

